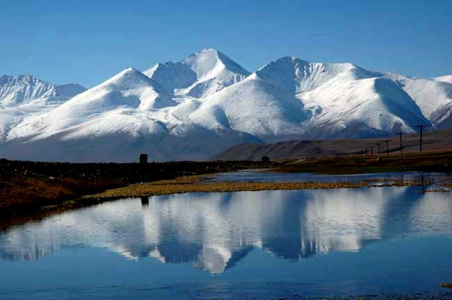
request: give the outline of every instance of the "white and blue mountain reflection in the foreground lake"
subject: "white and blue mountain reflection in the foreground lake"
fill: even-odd
[[[124,199],[9,228],[0,233],[0,256],[34,260],[63,247],[104,247],[220,274],[256,248],[297,261],[413,235],[452,235],[451,194],[401,187]]]

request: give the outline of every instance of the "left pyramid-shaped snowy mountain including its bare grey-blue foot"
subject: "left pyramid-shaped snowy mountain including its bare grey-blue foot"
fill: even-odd
[[[146,152],[153,160],[200,160],[236,142],[261,142],[230,128],[211,131],[179,119],[200,105],[182,102],[136,69],[126,69],[53,110],[27,117],[10,130],[0,153],[30,160],[127,162]]]

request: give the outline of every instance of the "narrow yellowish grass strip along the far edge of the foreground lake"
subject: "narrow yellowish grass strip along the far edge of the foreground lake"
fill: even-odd
[[[212,174],[202,174],[179,177],[170,180],[152,181],[147,183],[133,183],[120,188],[113,188],[97,194],[87,194],[76,199],[68,199],[59,203],[41,206],[33,210],[21,210],[17,213],[3,215],[0,220],[0,231],[10,226],[35,222],[58,215],[68,210],[88,208],[108,201],[127,198],[147,198],[168,194],[184,194],[191,192],[259,192],[264,190],[332,190],[344,188],[387,188],[403,186],[427,186],[433,181],[422,183],[416,180],[400,179],[369,179],[355,182],[232,182],[209,181]],[[207,179],[207,180],[206,180]],[[452,188],[452,184],[441,185]],[[432,190],[431,192],[446,192],[446,190]],[[447,190],[452,192],[452,190]]]

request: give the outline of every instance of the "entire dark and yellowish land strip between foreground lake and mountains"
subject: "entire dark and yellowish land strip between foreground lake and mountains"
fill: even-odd
[[[419,160],[422,163],[419,163]],[[418,163],[414,163],[417,161]],[[420,181],[231,182],[209,181],[211,174],[266,169],[275,173],[376,174],[380,172],[452,172],[452,152],[422,156],[309,158],[271,163],[247,161],[115,163],[37,163],[0,160],[0,219],[6,223],[45,217],[66,210],[128,197],[185,192],[240,192],[419,185]],[[429,185],[426,182],[424,185]],[[447,192],[448,179],[428,192]],[[0,230],[2,226],[0,222]],[[5,222],[3,222],[4,224]]]

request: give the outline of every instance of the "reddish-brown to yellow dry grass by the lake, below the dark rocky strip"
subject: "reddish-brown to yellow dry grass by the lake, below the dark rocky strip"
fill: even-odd
[[[382,186],[422,185],[420,181],[370,180],[354,183],[235,183],[207,181],[208,175],[181,177],[148,183],[134,183],[122,188],[121,182],[108,180],[77,181],[70,178],[24,178],[17,177],[2,181],[0,178],[0,212],[7,218],[0,218],[0,230],[15,224],[22,224],[66,210],[90,206],[104,201],[127,197],[149,197],[185,192],[237,192],[259,190],[304,190],[364,188]],[[378,185],[382,183],[382,185]],[[428,185],[428,183],[424,183]],[[102,192],[106,190],[106,192]],[[83,196],[79,198],[82,194]],[[1,198],[3,197],[3,198]],[[6,209],[5,209],[6,208]],[[20,214],[8,212],[19,211]],[[3,215],[4,216],[4,215]]]

